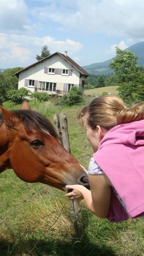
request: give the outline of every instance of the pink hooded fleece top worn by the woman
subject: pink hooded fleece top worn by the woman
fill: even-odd
[[[93,157],[126,205],[125,211],[112,190],[107,219],[119,222],[144,215],[144,120],[112,128]]]

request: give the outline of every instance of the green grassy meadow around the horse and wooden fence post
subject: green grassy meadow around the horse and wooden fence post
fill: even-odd
[[[109,88],[99,89],[107,91]],[[93,95],[89,91],[85,94]],[[98,93],[95,91],[96,96]],[[52,102],[29,104],[32,110],[47,116],[53,124],[54,113],[66,113],[71,153],[87,169],[92,148],[78,124],[77,111],[81,106],[62,107]],[[20,105],[15,108],[20,109]],[[144,255],[144,221],[141,218],[110,223],[92,215],[81,201],[83,235],[78,239],[64,192],[40,183],[26,183],[13,170],[0,174],[0,201],[0,256]]]

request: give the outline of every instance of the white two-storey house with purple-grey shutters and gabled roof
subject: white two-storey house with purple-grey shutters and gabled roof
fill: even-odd
[[[18,77],[18,89],[25,87],[31,92],[66,94],[72,86],[82,87],[89,73],[73,61],[67,52],[55,52],[34,64],[14,73]]]

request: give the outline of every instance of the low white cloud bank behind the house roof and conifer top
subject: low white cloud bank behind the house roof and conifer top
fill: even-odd
[[[82,45],[79,42],[66,39],[55,41],[55,38],[46,36],[43,38],[26,35],[0,34],[0,61],[3,67],[5,63],[20,63],[23,67],[36,62],[35,56],[41,54],[41,48],[48,45],[50,53],[68,51],[69,54],[77,53]],[[8,61],[9,60],[9,61]],[[15,62],[13,62],[15,61]],[[15,64],[14,66],[19,66]]]

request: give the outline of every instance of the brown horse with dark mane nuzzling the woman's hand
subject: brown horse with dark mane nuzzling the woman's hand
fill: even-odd
[[[0,109],[0,172],[13,169],[21,180],[61,190],[67,184],[89,186],[86,169],[60,145],[45,116],[26,101],[21,110]]]

